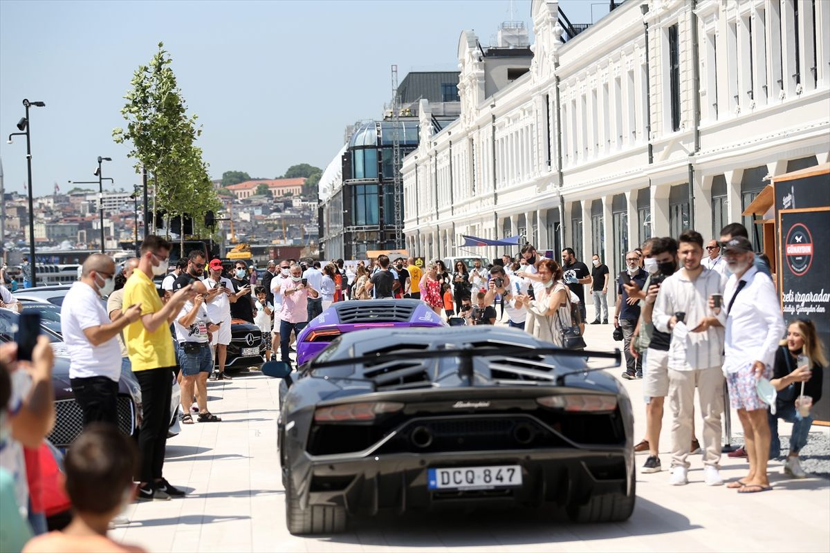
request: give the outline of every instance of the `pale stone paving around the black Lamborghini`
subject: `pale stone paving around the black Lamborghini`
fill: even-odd
[[[591,318],[588,318],[591,320]],[[588,326],[586,341],[609,351],[611,325]],[[619,376],[622,369],[612,371]],[[574,525],[558,512],[452,512],[354,521],[338,536],[301,538],[286,530],[276,451],[278,381],[257,371],[211,382],[209,407],[222,423],[193,424],[168,440],[165,476],[188,497],[133,504],[131,523],[111,535],[148,551],[830,551],[830,481],[792,480],[770,463],[774,489],[739,495],[702,483],[693,456],[690,483],[667,483],[666,413],[662,473],[637,473],[637,506],[624,523]],[[635,414],[635,441],[645,432],[642,381],[626,381]],[[700,426],[698,426],[700,428]],[[813,427],[828,434],[827,428]],[[733,414],[733,433],[740,424]],[[782,435],[789,425],[782,424]],[[700,438],[700,436],[699,436]],[[645,461],[637,455],[637,467]],[[725,478],[745,459],[722,459]]]

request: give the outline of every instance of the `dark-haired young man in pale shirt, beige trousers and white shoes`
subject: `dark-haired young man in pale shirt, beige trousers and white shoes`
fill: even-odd
[[[669,483],[688,483],[689,446],[695,388],[703,417],[704,480],[710,486],[720,478],[720,415],[724,410],[722,372],[723,322],[709,307],[713,294],[722,296],[726,279],[701,265],[703,237],[696,230],[680,235],[677,255],[682,269],[668,277],[657,293],[652,322],[660,332],[671,332],[669,346],[669,405],[671,423],[671,476]],[[723,317],[721,310],[721,317]]]

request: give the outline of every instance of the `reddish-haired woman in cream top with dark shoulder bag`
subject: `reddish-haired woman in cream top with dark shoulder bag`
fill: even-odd
[[[562,330],[571,326],[569,290],[562,282],[562,268],[554,260],[539,264],[539,276],[544,289],[530,296],[517,296],[527,306],[525,330],[534,337],[562,346]]]

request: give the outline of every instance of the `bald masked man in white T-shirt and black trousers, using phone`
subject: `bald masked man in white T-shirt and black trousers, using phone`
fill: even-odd
[[[141,315],[140,306],[110,321],[101,298],[115,288],[115,262],[103,254],[86,258],[81,280],[61,305],[61,333],[69,352],[69,381],[84,417],[84,426],[101,421],[118,424],[118,381],[121,351],[115,338]]]

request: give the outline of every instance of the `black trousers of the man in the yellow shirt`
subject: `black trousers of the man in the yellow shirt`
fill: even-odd
[[[141,414],[144,417],[139,432],[139,482],[152,483],[156,478],[162,478],[173,395],[173,368],[164,366],[133,372],[141,386]]]

